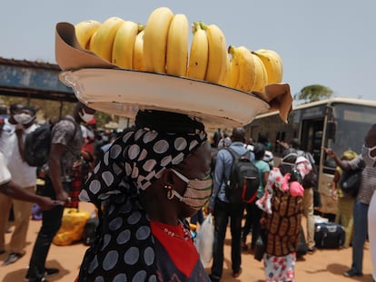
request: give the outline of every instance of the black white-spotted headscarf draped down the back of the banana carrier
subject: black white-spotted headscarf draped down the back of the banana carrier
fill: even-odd
[[[139,190],[151,188],[163,170],[207,140],[203,124],[183,114],[138,112],[135,123],[104,153],[80,194],[81,200],[104,208],[104,217],[79,281],[157,280],[155,242]]]

